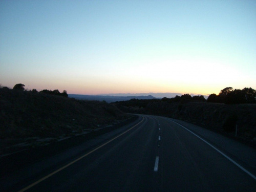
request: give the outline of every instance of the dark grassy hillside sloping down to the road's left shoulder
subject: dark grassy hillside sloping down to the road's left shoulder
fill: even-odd
[[[0,89],[1,151],[108,126],[129,118],[116,106],[37,92]]]

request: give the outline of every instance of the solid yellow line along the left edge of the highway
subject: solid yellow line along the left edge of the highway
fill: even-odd
[[[126,130],[125,132],[121,133],[120,135],[116,136],[115,138],[113,138],[113,139],[109,140],[108,142],[106,142],[106,143],[104,143],[104,144],[98,146],[98,147],[95,148],[94,150],[92,150],[92,151],[88,152],[87,154],[85,154],[85,155],[79,157],[78,159],[76,159],[76,160],[74,160],[74,161],[68,163],[67,165],[65,165],[65,166],[63,166],[63,167],[61,167],[61,168],[55,170],[55,172],[52,172],[51,174],[49,174],[49,175],[47,175],[47,176],[45,176],[45,177],[39,179],[38,181],[36,181],[36,182],[30,184],[29,186],[27,186],[27,187],[25,187],[25,188],[19,190],[18,192],[22,192],[22,191],[26,191],[26,190],[30,189],[31,187],[35,186],[36,184],[38,184],[38,183],[40,183],[40,182],[46,180],[47,178],[53,176],[54,174],[60,172],[61,170],[65,169],[65,168],[67,168],[68,166],[74,164],[75,162],[81,160],[82,158],[84,158],[84,157],[90,155],[91,153],[97,151],[97,150],[98,150],[99,148],[101,148],[102,146],[104,146],[104,145],[110,143],[111,141],[117,139],[118,137],[122,136],[123,134],[125,134],[125,133],[129,132],[130,130],[134,129],[134,127],[137,126],[138,124],[140,124],[143,120],[144,120],[144,117],[143,117],[143,119],[142,119],[140,122],[138,122],[136,125],[134,125],[133,127],[131,127],[129,130]]]

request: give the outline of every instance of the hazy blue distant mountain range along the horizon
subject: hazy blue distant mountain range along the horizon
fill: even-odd
[[[116,101],[127,101],[130,99],[159,99],[153,97],[152,95],[148,96],[113,96],[113,95],[77,95],[69,94],[70,98],[83,99],[83,100],[96,100],[96,101],[106,101],[108,103]]]

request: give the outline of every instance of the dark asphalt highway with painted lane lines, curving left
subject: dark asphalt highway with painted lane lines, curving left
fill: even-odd
[[[256,150],[199,126],[136,122],[1,178],[1,191],[256,191]]]

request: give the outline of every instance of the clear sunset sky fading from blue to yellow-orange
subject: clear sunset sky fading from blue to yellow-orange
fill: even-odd
[[[0,83],[90,95],[256,89],[256,1],[0,1]]]

